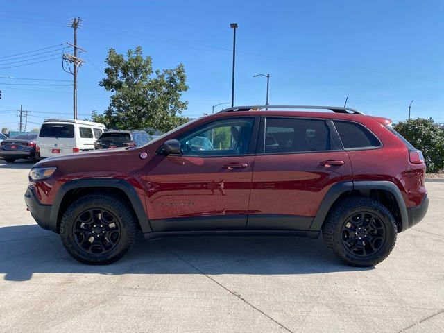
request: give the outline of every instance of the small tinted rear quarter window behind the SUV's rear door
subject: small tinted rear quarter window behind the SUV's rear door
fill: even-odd
[[[345,149],[377,148],[381,146],[379,139],[360,123],[351,121],[333,121]]]

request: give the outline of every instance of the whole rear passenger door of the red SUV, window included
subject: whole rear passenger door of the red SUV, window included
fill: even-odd
[[[351,180],[347,153],[325,119],[265,117],[260,133],[248,229],[309,230],[328,189]]]

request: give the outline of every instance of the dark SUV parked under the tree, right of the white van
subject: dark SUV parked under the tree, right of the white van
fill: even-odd
[[[94,142],[94,148],[139,147],[150,140],[150,135],[144,130],[107,130]]]

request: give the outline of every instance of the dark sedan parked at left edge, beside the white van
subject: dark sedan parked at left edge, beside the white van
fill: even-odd
[[[36,133],[16,135],[0,143],[0,156],[8,163],[20,158],[35,160]]]

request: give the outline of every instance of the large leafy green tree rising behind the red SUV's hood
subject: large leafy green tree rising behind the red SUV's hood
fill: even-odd
[[[113,94],[103,114],[92,112],[93,121],[108,128],[154,128],[162,132],[187,122],[179,117],[188,104],[180,100],[188,89],[182,64],[153,71],[151,57],[142,56],[141,46],[128,50],[126,58],[110,49],[105,62],[106,77],[99,85]]]

